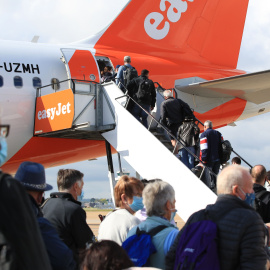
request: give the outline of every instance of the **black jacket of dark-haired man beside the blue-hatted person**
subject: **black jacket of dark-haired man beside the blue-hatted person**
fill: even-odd
[[[55,192],[50,197],[42,208],[44,217],[77,258],[78,251],[93,241],[94,234],[86,223],[86,213],[81,203],[69,193]]]

